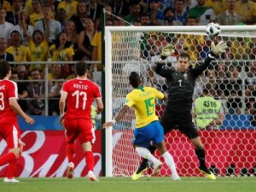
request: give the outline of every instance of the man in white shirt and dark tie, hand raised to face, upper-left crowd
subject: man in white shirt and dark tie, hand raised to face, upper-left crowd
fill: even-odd
[[[57,20],[53,20],[51,18],[52,15],[52,10],[49,7],[49,5],[44,5],[43,7],[43,13],[44,13],[44,20],[38,20],[36,26],[35,26],[35,30],[40,30],[41,32],[44,33],[45,36],[45,32],[46,32],[46,27],[45,27],[45,23],[47,22],[46,20],[48,20],[49,22],[49,45],[54,44],[57,35],[61,32],[61,23]]]

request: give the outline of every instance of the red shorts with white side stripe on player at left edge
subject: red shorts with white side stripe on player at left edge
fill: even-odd
[[[3,137],[8,148],[20,148],[20,127],[18,122],[1,122],[0,125],[0,136]]]

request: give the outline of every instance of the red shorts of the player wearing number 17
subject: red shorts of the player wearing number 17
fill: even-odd
[[[79,137],[80,143],[95,143],[95,128],[88,119],[74,119],[64,121],[66,141],[74,143]]]

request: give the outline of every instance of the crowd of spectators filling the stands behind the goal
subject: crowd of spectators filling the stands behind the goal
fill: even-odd
[[[103,8],[107,11],[107,26],[206,26],[209,22],[256,24],[255,0],[1,1],[0,58],[16,63],[12,68],[12,79],[18,80],[19,102],[26,113],[44,115],[44,79],[48,78],[48,114],[59,114],[61,84],[65,79],[73,79],[75,74],[73,65],[54,61],[102,60],[100,26]],[[183,49],[188,51],[191,61],[201,61],[209,52],[207,45],[210,41],[202,35],[147,33],[142,39],[142,57],[151,61],[166,44],[173,43],[176,46],[173,56]],[[229,38],[227,43],[229,48],[218,58],[218,63],[201,76],[203,81],[196,84],[195,92],[201,95],[201,90],[207,88],[212,90],[214,98],[225,98],[228,113],[242,113],[243,103],[245,113],[255,113],[256,38]],[[19,64],[21,61],[31,61],[32,64]],[[38,61],[53,62],[49,65],[48,77],[45,77],[45,65]],[[94,73],[102,67],[91,64],[89,70],[93,79]],[[155,77],[149,68],[148,81]],[[246,83],[243,92],[242,79]],[[162,85],[160,87],[163,89]],[[246,96],[246,101],[241,101],[241,96]]]

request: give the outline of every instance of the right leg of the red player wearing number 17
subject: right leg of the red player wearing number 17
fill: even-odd
[[[96,140],[95,128],[90,120],[79,120],[79,140],[82,144],[86,166],[89,170],[87,177],[89,177],[90,181],[98,181],[93,172],[94,156],[92,153],[92,144],[95,143]]]

